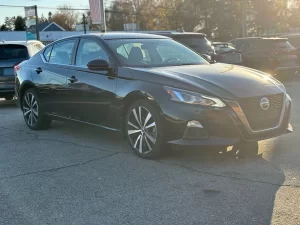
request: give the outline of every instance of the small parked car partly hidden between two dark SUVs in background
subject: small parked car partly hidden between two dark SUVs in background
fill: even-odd
[[[227,42],[214,42],[216,53],[219,56],[218,62],[242,65],[242,54],[239,50],[231,46]]]

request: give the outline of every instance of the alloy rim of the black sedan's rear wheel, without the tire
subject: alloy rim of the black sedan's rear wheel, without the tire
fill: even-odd
[[[38,104],[32,93],[27,93],[23,100],[23,114],[26,123],[33,127],[38,120]]]

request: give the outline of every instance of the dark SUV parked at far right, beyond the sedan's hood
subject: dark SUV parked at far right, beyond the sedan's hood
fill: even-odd
[[[292,75],[299,70],[295,48],[286,38],[237,38],[230,43],[242,52],[247,67],[272,75]]]

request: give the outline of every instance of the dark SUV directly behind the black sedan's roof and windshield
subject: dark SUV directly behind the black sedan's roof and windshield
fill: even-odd
[[[208,60],[219,60],[215,48],[207,40],[205,34],[193,32],[155,32],[155,34],[170,37],[205,56]]]

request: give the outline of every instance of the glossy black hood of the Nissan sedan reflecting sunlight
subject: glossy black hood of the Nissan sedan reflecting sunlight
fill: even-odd
[[[193,90],[196,88],[196,91],[200,92],[203,90],[205,93],[220,97],[248,98],[277,94],[284,91],[283,85],[266,73],[247,67],[223,63],[133,68],[133,70],[146,72],[145,76],[141,76],[141,73],[133,73],[133,76],[136,74],[135,78],[137,79],[172,85],[178,88],[182,87],[182,83],[188,84],[193,87]],[[148,73],[158,74],[163,77],[151,77],[151,74]],[[177,82],[170,82],[170,79]]]

